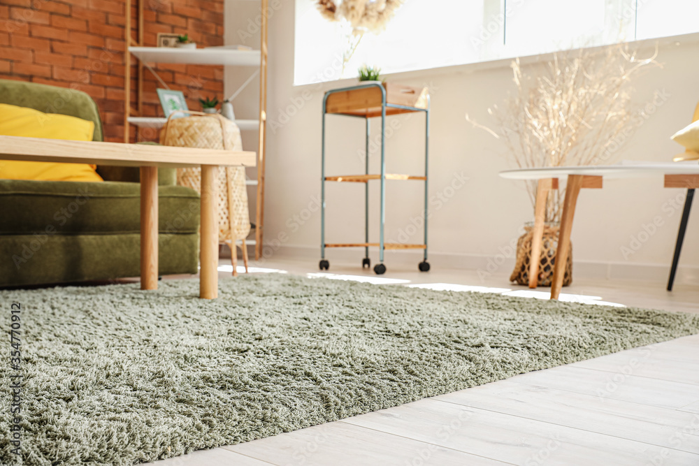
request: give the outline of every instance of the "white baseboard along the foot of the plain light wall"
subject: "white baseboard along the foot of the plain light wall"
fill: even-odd
[[[284,245],[274,252],[267,249],[267,260],[291,259],[304,261],[317,261],[320,259],[320,248],[311,246]],[[378,252],[370,249],[369,255],[372,263],[377,263]],[[398,266],[417,268],[422,261],[422,251],[387,251],[384,255],[384,263]],[[361,265],[363,258],[362,248],[329,248],[326,249],[326,259],[338,263],[353,263]],[[477,254],[447,254],[443,252],[431,252],[429,259],[432,268],[477,270],[490,275],[507,275],[514,268],[514,258],[504,256],[480,256]],[[667,264],[655,263],[614,263],[575,260],[573,262],[575,277],[589,279],[609,280],[633,280],[638,282],[665,283],[670,274],[670,262]],[[675,284],[699,284],[699,267],[679,265]]]

